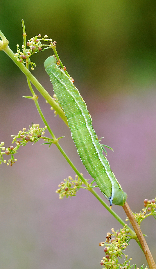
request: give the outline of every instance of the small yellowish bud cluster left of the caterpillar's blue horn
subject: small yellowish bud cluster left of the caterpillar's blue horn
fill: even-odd
[[[70,196],[76,196],[76,192],[79,188],[85,188],[82,187],[82,180],[78,177],[78,175],[75,176],[75,179],[72,179],[72,177],[68,177],[68,179],[64,179],[64,181],[61,181],[61,183],[58,185],[59,189],[56,190],[56,193],[59,193],[59,199],[63,199],[64,196],[67,198]]]

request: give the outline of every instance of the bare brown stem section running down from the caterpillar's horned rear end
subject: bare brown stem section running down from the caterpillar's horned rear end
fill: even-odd
[[[132,224],[133,229],[136,232],[137,238],[139,239],[140,245],[141,245],[141,247],[142,247],[142,249],[144,251],[144,254],[145,254],[146,260],[148,262],[149,268],[150,269],[156,269],[155,261],[154,261],[154,259],[152,257],[152,254],[151,254],[151,252],[149,250],[149,247],[148,247],[148,245],[146,243],[146,240],[145,240],[145,238],[144,238],[144,236],[143,236],[143,234],[141,232],[141,229],[140,229],[137,221],[135,220],[135,217],[134,217],[134,215],[133,215],[133,213],[132,213],[132,211],[131,211],[131,209],[130,209],[127,202],[125,202],[125,204],[123,206],[123,209],[124,209],[126,215],[128,216],[128,218],[130,220],[130,223]]]

